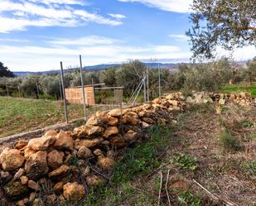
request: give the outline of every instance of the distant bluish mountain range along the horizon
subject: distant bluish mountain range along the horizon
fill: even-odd
[[[147,66],[150,66],[152,68],[157,68],[158,67],[158,63],[144,63]],[[177,69],[178,65],[180,65],[181,63],[177,63],[177,64],[173,64],[173,63],[167,63],[167,64],[162,64],[159,63],[160,68],[167,68],[167,69]],[[107,69],[109,67],[118,67],[120,64],[109,64],[109,65],[93,65],[93,66],[86,66],[83,69],[89,70],[89,71],[93,71],[93,70],[101,70],[101,69]],[[65,73],[69,73],[74,71],[77,68],[72,68],[72,69],[65,69]],[[15,71],[13,72],[13,74],[15,74],[16,76],[27,76],[27,75],[40,75],[40,74],[57,74],[60,73],[60,69],[56,70],[49,70],[49,71],[41,71],[41,72],[31,72],[31,71]]]

